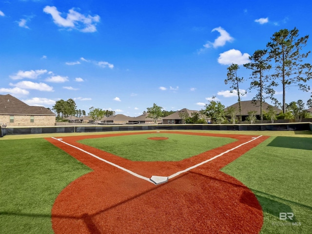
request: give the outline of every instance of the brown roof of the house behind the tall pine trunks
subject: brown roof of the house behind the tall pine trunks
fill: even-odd
[[[238,102],[236,102],[235,104],[233,104],[232,106],[234,106],[237,110],[237,116],[239,115],[239,104]],[[232,106],[228,106],[227,108],[224,109],[224,111],[227,111],[227,109],[229,107]],[[255,103],[253,100],[249,100],[249,101],[240,101],[240,106],[241,106],[241,112],[242,112],[242,116],[248,116],[248,112],[250,111],[256,111],[257,115],[260,115],[260,101],[257,100]],[[262,102],[262,111],[267,111],[268,106],[272,106],[266,102]],[[274,110],[277,113],[280,113],[282,110],[277,108],[276,106],[272,106],[274,108]]]

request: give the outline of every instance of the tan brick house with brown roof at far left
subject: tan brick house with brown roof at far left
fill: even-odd
[[[13,96],[0,95],[1,126],[54,126],[55,114],[43,106],[29,106]]]

